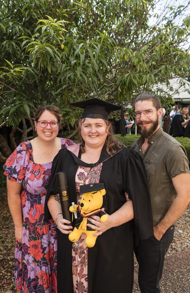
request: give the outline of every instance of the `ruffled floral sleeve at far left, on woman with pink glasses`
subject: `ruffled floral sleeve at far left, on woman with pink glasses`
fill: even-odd
[[[3,166],[4,175],[8,176],[11,181],[22,183],[29,160],[30,153],[27,143],[22,142],[6,160]]]

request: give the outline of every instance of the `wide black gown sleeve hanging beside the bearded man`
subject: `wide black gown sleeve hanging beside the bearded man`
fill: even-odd
[[[153,218],[146,170],[141,156],[126,148],[124,167],[124,190],[132,200],[134,210],[134,233],[140,239],[153,235]]]

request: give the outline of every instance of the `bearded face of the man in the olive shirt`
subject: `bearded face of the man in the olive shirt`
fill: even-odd
[[[144,113],[141,113],[140,118],[136,118],[137,127],[141,135],[145,138],[149,138],[160,127],[159,119],[162,116],[162,108],[156,110],[153,106],[152,100],[138,101],[135,103],[135,112],[144,110],[154,110],[151,117],[146,117]]]

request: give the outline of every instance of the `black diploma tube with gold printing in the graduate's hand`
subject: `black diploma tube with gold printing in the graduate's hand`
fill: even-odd
[[[65,172],[56,173],[57,185],[59,190],[59,196],[61,200],[61,209],[63,213],[63,219],[66,219],[72,222],[71,212],[69,211],[70,199],[69,199],[69,190],[67,184],[67,177]],[[70,226],[70,224],[65,224]]]

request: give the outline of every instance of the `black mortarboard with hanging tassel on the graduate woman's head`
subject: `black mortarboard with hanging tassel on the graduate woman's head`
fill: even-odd
[[[126,135],[125,131],[125,119],[123,113],[122,105],[114,105],[106,101],[93,98],[89,100],[84,100],[80,102],[70,103],[70,105],[84,109],[82,118],[101,118],[105,120],[108,119],[108,113],[111,111],[121,110],[121,123],[120,123],[120,134],[121,136]]]

